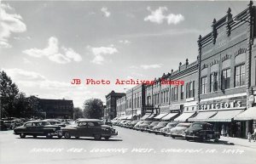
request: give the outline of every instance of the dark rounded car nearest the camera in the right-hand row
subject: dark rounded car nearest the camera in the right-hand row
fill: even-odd
[[[184,136],[187,140],[207,141],[213,139],[218,141],[219,133],[214,133],[212,124],[207,122],[194,122],[189,128],[184,131]]]

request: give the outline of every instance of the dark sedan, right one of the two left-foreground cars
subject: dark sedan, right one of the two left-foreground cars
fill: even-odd
[[[78,124],[73,127],[62,127],[62,134],[65,139],[75,137],[93,137],[95,139],[106,139],[118,135],[113,127],[104,125],[101,120],[98,119],[81,119]]]

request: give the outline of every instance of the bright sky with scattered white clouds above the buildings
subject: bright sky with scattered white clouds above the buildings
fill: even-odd
[[[195,61],[197,38],[213,18],[247,3],[2,1],[0,69],[27,96],[105,102],[112,90],[134,87],[114,85],[116,78],[153,80]],[[73,78],[83,83],[73,86]],[[85,85],[86,78],[112,85]]]

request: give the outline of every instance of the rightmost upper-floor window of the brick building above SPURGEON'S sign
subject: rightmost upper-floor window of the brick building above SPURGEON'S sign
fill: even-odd
[[[236,66],[235,71],[235,87],[245,85],[245,65]]]

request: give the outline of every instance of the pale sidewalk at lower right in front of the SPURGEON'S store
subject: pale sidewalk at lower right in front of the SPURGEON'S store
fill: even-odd
[[[231,137],[223,137],[220,136],[219,141],[227,142],[228,144],[235,144],[245,147],[250,147],[256,149],[256,142],[253,142],[253,139],[251,142],[248,141],[248,139],[239,139],[239,138],[231,138]]]

